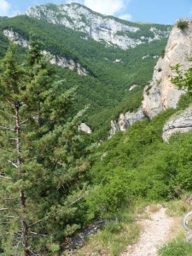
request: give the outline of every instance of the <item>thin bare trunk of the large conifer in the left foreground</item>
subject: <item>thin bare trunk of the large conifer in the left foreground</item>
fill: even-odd
[[[20,160],[20,117],[19,117],[20,102],[15,102],[15,133],[16,133],[16,152],[17,152],[17,171],[18,178],[21,177],[21,160]],[[21,240],[23,245],[24,256],[29,256],[27,225],[25,221],[26,197],[25,192],[20,190],[20,226]]]

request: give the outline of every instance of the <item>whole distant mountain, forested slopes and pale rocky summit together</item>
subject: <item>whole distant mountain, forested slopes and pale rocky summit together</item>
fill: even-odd
[[[86,15],[84,26],[70,25],[72,23],[68,20],[79,22],[86,12],[89,15]],[[60,19],[54,20],[53,16],[57,15]],[[93,25],[95,21],[90,25],[90,20],[94,19],[100,20],[98,27]],[[106,31],[102,31],[103,24]],[[44,43],[44,51],[55,58],[52,63],[65,67],[57,69],[61,79],[67,80],[66,88],[79,87],[75,109],[90,105],[84,121],[95,131],[94,137],[103,139],[108,137],[111,119],[121,111],[133,111],[139,107],[143,86],[150,80],[154,63],[165,49],[171,26],[117,20],[96,14],[79,4],[71,4],[58,9],[54,5],[28,9],[26,15],[2,20],[0,28],[1,55],[7,47],[7,38],[25,45],[32,32]],[[103,37],[91,36],[94,33],[89,34],[90,30],[101,31]],[[108,32],[116,35],[116,41],[108,39]],[[130,39],[135,43],[121,49],[118,42],[125,45],[124,40]],[[142,40],[141,44],[137,44],[138,39]],[[89,75],[79,76],[76,70]],[[138,86],[130,91],[132,84]]]

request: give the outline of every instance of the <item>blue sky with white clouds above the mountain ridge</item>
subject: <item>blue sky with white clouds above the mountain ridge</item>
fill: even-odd
[[[0,0],[0,16],[22,14],[44,3],[81,3],[103,15],[123,20],[174,24],[179,18],[192,18],[192,0]]]

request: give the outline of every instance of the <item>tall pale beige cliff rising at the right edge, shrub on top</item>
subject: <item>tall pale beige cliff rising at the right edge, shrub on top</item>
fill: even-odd
[[[174,26],[166,45],[164,58],[160,58],[154,67],[153,79],[143,92],[143,112],[153,118],[166,108],[176,108],[179,97],[184,93],[172,84],[176,75],[171,69],[176,64],[183,65],[183,72],[191,67],[192,20],[189,28],[181,30]]]

